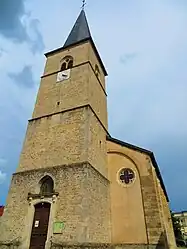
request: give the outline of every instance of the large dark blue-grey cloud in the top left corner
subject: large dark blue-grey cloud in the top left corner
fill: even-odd
[[[39,21],[26,12],[25,0],[1,1],[0,34],[13,42],[27,42],[33,53],[41,52],[45,47]]]

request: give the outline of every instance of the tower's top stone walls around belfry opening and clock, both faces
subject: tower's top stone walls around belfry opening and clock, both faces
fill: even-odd
[[[57,83],[61,59],[66,55],[74,58],[74,66],[71,68],[70,78]],[[89,104],[107,129],[105,77],[101,68],[99,76],[96,76],[96,64],[100,66],[89,42],[49,56],[33,118]]]

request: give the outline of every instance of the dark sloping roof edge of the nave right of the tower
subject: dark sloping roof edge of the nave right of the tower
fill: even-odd
[[[107,140],[108,140],[108,141],[111,141],[111,142],[113,142],[113,143],[119,144],[119,145],[121,145],[121,146],[127,147],[127,148],[129,148],[129,149],[136,150],[136,151],[139,151],[139,152],[141,152],[141,153],[144,153],[144,154],[149,155],[150,158],[151,158],[152,164],[153,164],[153,166],[154,166],[154,168],[155,168],[157,177],[158,177],[158,179],[160,180],[160,184],[161,184],[161,186],[162,186],[162,189],[163,189],[163,191],[164,191],[164,194],[165,194],[165,196],[166,196],[166,199],[167,199],[167,201],[169,202],[169,198],[168,198],[168,195],[167,195],[167,192],[166,192],[166,188],[165,188],[165,186],[164,186],[164,182],[163,182],[163,179],[162,179],[162,176],[161,176],[161,173],[160,173],[160,170],[159,170],[159,167],[158,167],[158,164],[157,164],[157,162],[156,162],[156,159],[155,159],[155,156],[154,156],[153,152],[150,151],[150,150],[146,150],[146,149],[137,147],[137,146],[135,146],[135,145],[133,145],[133,144],[129,144],[129,143],[123,142],[123,141],[121,141],[121,140],[118,140],[118,139],[113,138],[113,137],[108,136],[108,135],[107,135]]]

